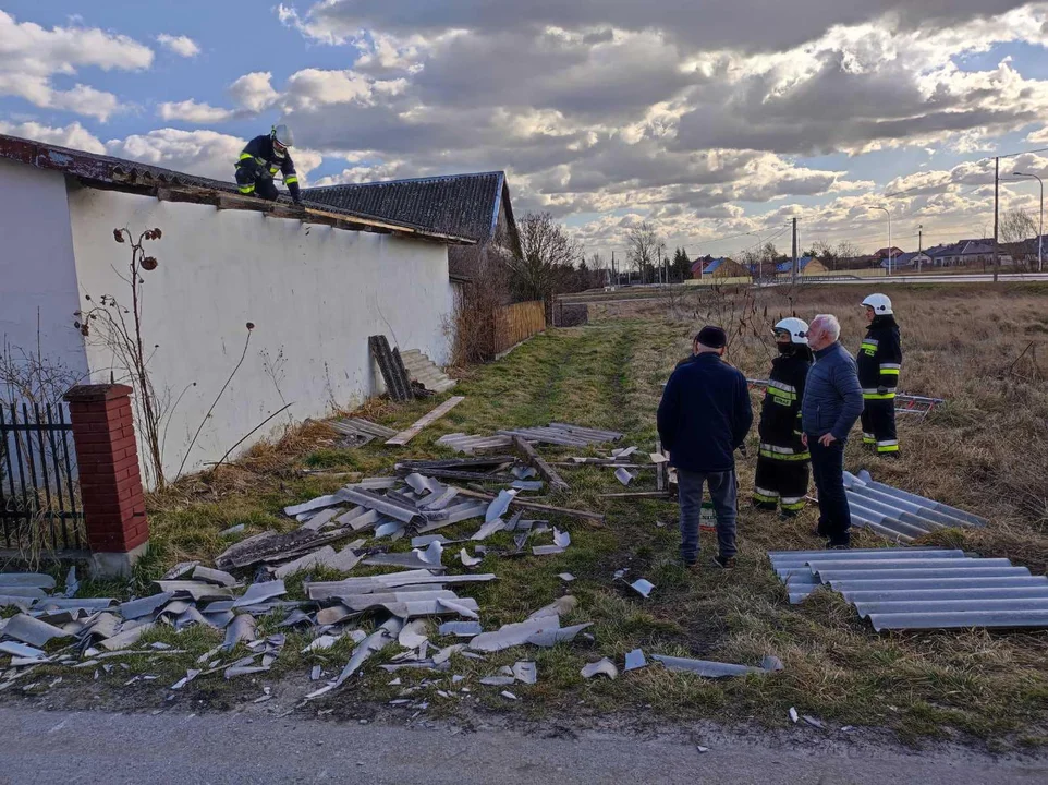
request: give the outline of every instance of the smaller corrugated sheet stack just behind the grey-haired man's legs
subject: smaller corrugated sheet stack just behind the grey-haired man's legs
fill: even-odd
[[[844,472],[844,492],[852,526],[863,527],[899,543],[911,543],[939,529],[984,527],[987,521],[956,507],[874,482],[869,472]]]

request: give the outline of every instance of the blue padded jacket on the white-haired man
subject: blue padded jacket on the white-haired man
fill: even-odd
[[[809,438],[831,433],[843,442],[862,413],[863,388],[852,355],[840,342],[815,352],[801,401],[804,433]]]

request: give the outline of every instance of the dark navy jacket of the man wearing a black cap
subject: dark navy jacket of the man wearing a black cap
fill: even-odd
[[[677,366],[662,390],[658,425],[670,463],[693,472],[731,471],[753,424],[746,377],[717,354]]]

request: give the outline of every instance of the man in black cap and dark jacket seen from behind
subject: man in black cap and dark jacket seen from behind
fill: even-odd
[[[717,512],[719,553],[714,565],[735,564],[735,459],[753,424],[746,377],[726,363],[727,336],[720,327],[703,327],[695,337],[695,358],[677,366],[659,403],[662,446],[677,469],[681,505],[681,558],[698,561],[698,526],[703,486]]]

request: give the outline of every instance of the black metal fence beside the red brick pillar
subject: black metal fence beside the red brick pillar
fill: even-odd
[[[64,406],[0,406],[0,546],[85,546],[73,426]]]

